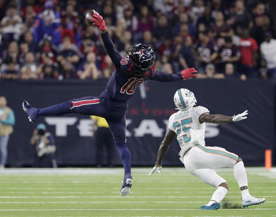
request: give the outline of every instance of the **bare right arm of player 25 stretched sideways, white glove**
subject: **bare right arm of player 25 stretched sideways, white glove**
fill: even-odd
[[[229,122],[236,122],[240,120],[246,119],[246,115],[248,115],[247,110],[244,111],[241,114],[238,114],[237,116],[233,115],[232,117],[230,116],[225,116],[222,114],[208,114],[207,112],[199,116],[199,121],[200,123],[212,123],[212,124],[226,124]]]

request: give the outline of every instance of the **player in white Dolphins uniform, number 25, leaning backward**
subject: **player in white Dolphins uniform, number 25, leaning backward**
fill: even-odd
[[[238,155],[221,147],[206,147],[204,141],[205,123],[225,124],[232,121],[246,119],[247,110],[237,116],[225,116],[221,114],[209,114],[209,110],[202,106],[196,106],[194,94],[187,89],[179,89],[174,96],[176,109],[179,111],[169,118],[169,129],[162,141],[154,168],[149,176],[157,170],[160,173],[162,160],[165,157],[170,143],[177,135],[181,151],[180,160],[185,168],[204,183],[216,188],[208,204],[202,205],[202,210],[217,210],[219,203],[228,192],[228,185],[224,178],[220,177],[213,168],[231,167],[241,189],[242,206],[263,203],[264,198],[252,197],[248,191],[247,176],[244,163]],[[196,107],[195,107],[196,106]]]

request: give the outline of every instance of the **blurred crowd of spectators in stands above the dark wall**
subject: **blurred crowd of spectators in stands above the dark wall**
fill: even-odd
[[[276,40],[265,1],[0,0],[1,79],[108,79],[114,66],[95,9],[122,56],[136,43],[154,48],[155,68],[198,78],[276,77]]]

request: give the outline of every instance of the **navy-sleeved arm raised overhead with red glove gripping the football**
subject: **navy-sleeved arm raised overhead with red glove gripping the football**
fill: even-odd
[[[97,26],[98,29],[101,32],[101,38],[103,40],[104,48],[106,50],[106,53],[108,54],[108,56],[112,60],[114,66],[117,67],[117,68],[120,67],[120,61],[121,61],[122,56],[115,49],[114,44],[113,44],[113,42],[111,41],[111,39],[109,37],[109,34],[106,30],[106,24],[104,23],[103,17],[99,16],[98,14],[94,14],[93,17],[94,18],[92,18],[92,20],[95,21],[95,23],[93,23],[93,26]]]

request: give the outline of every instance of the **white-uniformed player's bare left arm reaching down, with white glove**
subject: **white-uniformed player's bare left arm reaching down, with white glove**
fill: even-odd
[[[163,139],[162,143],[160,144],[158,154],[157,154],[157,160],[155,163],[154,168],[150,172],[149,176],[154,173],[155,170],[158,170],[160,173],[160,169],[162,168],[162,160],[164,159],[170,143],[172,143],[173,139],[175,138],[176,133],[173,130],[168,130],[168,132],[165,135],[165,138]]]

